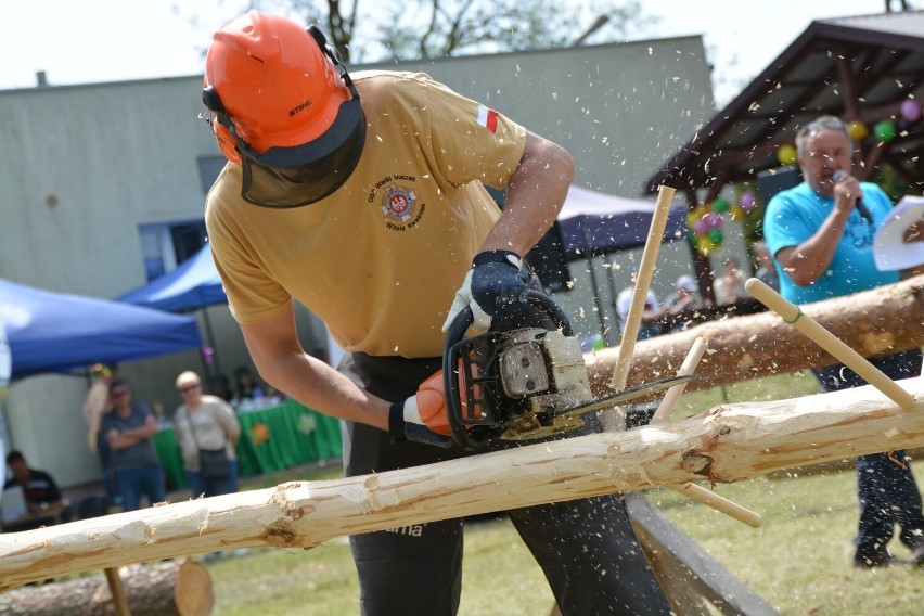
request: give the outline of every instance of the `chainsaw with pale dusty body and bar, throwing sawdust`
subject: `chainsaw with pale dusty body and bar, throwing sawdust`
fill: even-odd
[[[467,337],[473,315],[465,308],[447,332],[446,411],[452,437],[463,449],[480,449],[497,439],[536,440],[572,432],[583,427],[587,413],[694,377],[675,376],[595,398],[580,343],[564,311],[538,291],[527,291],[526,299],[538,309],[530,313],[542,324]]]

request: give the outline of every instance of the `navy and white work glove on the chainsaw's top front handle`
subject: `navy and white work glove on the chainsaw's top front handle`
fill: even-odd
[[[491,320],[516,308],[525,301],[528,279],[521,269],[521,259],[510,251],[485,251],[472,260],[462,286],[449,308],[442,331],[448,332],[455,317],[465,306],[472,308],[472,329],[487,332]]]

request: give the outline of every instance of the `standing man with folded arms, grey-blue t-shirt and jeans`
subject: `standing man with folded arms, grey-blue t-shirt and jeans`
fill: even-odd
[[[166,482],[152,438],[157,420],[151,409],[132,400],[131,386],[125,378],[110,383],[112,410],[103,415],[100,434],[112,450],[111,464],[124,511],[141,506],[146,495],[151,504],[167,498]]]

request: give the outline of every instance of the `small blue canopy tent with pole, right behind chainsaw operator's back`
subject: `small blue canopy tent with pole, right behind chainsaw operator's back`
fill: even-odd
[[[226,304],[228,296],[224,294],[218,270],[211,259],[211,246],[206,243],[198,253],[184,260],[177,269],[116,297],[115,300],[169,312],[188,312],[202,308],[206,335],[209,345],[215,347],[215,335],[211,332],[207,308],[214,304]],[[209,356],[205,360],[206,376],[208,376],[208,364],[213,360],[216,371],[221,372],[217,355]]]

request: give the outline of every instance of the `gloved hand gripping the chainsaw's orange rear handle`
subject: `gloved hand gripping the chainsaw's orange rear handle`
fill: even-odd
[[[446,413],[442,370],[418,387],[418,393],[388,410],[388,434],[393,442],[413,440],[436,447],[452,445],[452,428]]]

